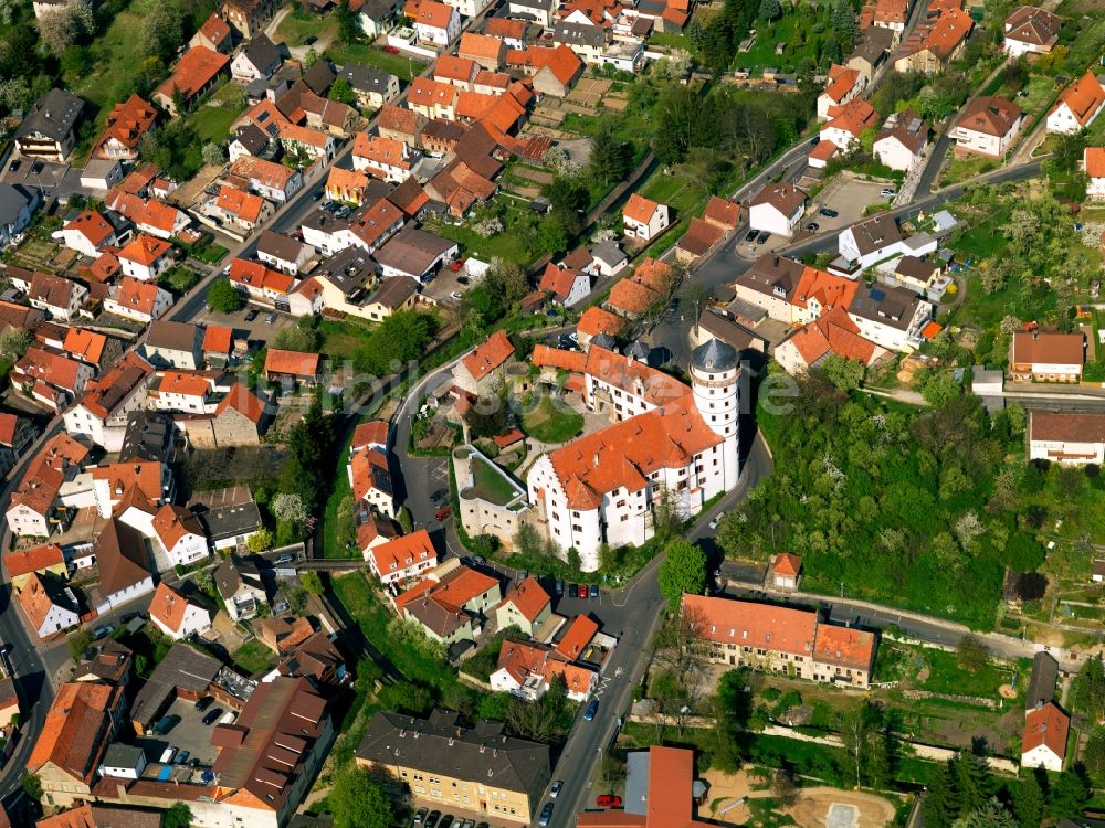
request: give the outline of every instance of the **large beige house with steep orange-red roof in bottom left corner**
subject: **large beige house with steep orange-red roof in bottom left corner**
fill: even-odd
[[[42,786],[42,799],[56,808],[91,797],[107,746],[123,725],[123,688],[71,681],[57,688],[27,760]]]

